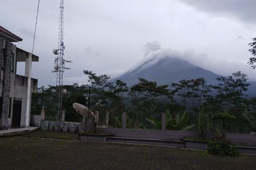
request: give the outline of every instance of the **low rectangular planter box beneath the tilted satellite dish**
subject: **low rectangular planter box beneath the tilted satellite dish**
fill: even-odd
[[[78,140],[82,141],[107,142],[108,137],[114,137],[114,134],[78,133]]]

